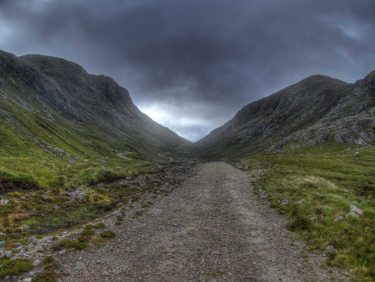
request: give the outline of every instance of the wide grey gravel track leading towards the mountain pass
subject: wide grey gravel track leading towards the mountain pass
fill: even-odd
[[[317,265],[302,258],[303,244],[284,228],[286,219],[254,193],[252,175],[225,163],[207,163],[151,209],[125,221],[105,220],[117,236],[82,252],[57,255],[61,281],[276,282],[329,281]],[[172,188],[172,187],[171,187]],[[133,218],[132,218],[133,217]],[[308,261],[309,260],[309,261]],[[78,264],[77,264],[78,262]],[[77,265],[82,269],[76,269]]]

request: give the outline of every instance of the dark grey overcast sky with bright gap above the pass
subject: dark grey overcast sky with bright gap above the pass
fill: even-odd
[[[0,49],[113,77],[196,141],[309,75],[375,69],[374,0],[0,0]]]

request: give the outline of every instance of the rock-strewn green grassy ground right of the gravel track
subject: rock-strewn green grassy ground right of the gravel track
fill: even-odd
[[[348,147],[351,150],[345,150]],[[287,211],[289,228],[307,241],[309,250],[322,253],[327,246],[335,246],[337,253],[328,264],[353,269],[354,281],[373,281],[375,146],[323,143],[294,150],[290,145],[287,148],[282,155],[242,153],[236,159],[244,166],[248,164],[250,170],[267,169],[259,188],[267,190],[272,207]],[[356,151],[362,157],[354,158]],[[289,204],[280,207],[278,201],[282,199],[288,199]],[[300,199],[306,199],[307,204],[293,204]],[[359,218],[345,219],[350,205],[357,205],[365,213]],[[344,216],[345,220],[333,223],[338,216]],[[310,220],[311,217],[317,220]]]

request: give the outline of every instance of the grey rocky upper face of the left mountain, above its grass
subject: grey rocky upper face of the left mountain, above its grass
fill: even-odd
[[[129,92],[112,78],[88,74],[65,59],[36,54],[17,57],[0,51],[0,89],[1,99],[12,101],[13,110],[24,107],[34,113],[33,119],[52,127],[63,119],[82,132],[108,135],[124,146],[155,152],[188,142],[142,113]],[[3,111],[11,115],[12,109]],[[13,118],[17,120],[18,115]],[[38,138],[37,132],[31,134]]]

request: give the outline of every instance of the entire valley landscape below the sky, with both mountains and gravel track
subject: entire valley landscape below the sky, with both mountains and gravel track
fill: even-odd
[[[374,85],[314,75],[190,142],[110,77],[0,51],[0,279],[373,281]]]

